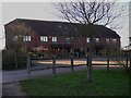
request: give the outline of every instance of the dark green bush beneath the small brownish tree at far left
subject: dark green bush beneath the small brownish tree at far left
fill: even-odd
[[[12,50],[2,51],[2,70],[19,70],[26,68],[26,54],[17,53],[17,68],[15,66],[15,53]]]

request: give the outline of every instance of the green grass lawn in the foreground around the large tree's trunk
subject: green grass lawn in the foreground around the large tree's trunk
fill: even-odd
[[[123,71],[93,71],[93,82],[86,82],[86,71],[38,77],[21,82],[27,96],[128,96],[129,76]]]

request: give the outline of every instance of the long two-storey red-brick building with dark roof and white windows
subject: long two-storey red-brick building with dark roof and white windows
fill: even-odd
[[[88,25],[82,25],[78,23],[67,22],[51,22],[51,21],[38,21],[38,20],[23,20],[16,19],[4,25],[5,37],[9,35],[9,24],[15,22],[24,23],[35,34],[32,37],[29,34],[23,36],[23,41],[26,42],[27,48],[32,51],[49,52],[55,50],[56,53],[70,54],[73,50],[78,57],[85,56],[85,51],[88,50],[90,45],[90,32]],[[94,25],[92,29],[94,37],[93,53],[106,54],[106,48],[120,48],[120,36],[110,28],[103,25]],[[13,38],[11,38],[13,39]],[[8,37],[5,39],[5,47],[8,46]]]

